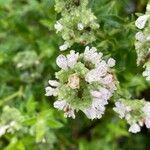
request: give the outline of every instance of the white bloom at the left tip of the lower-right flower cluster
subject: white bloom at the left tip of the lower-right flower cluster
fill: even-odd
[[[128,114],[128,112],[131,111],[131,108],[129,106],[126,106],[122,102],[116,102],[113,110],[120,115],[120,118],[124,118]]]

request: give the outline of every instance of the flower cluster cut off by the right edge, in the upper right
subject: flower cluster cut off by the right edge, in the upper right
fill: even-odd
[[[146,13],[140,17],[135,22],[135,25],[139,32],[135,35],[135,48],[137,52],[137,64],[143,64],[145,62],[149,62],[149,54],[150,54],[150,4],[147,5]],[[144,65],[146,67],[146,65]],[[146,71],[143,72],[143,76],[148,76],[147,80],[149,80],[150,75],[147,74]]]

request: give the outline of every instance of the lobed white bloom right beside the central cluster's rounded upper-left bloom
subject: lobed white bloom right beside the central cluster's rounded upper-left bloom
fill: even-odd
[[[77,63],[79,58],[79,53],[75,53],[75,51],[71,50],[70,54],[67,55],[67,63],[70,68],[73,68],[74,65]]]

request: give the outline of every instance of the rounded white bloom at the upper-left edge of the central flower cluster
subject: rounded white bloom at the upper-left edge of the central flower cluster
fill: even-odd
[[[61,68],[61,69],[68,69],[68,62],[67,58],[64,55],[59,55],[56,59],[56,64]]]

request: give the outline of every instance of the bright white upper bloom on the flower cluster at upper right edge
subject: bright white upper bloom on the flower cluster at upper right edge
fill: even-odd
[[[143,16],[138,17],[138,19],[135,22],[135,25],[139,29],[143,29],[145,27],[145,24],[146,24],[149,17],[150,17],[150,15],[143,15]]]

